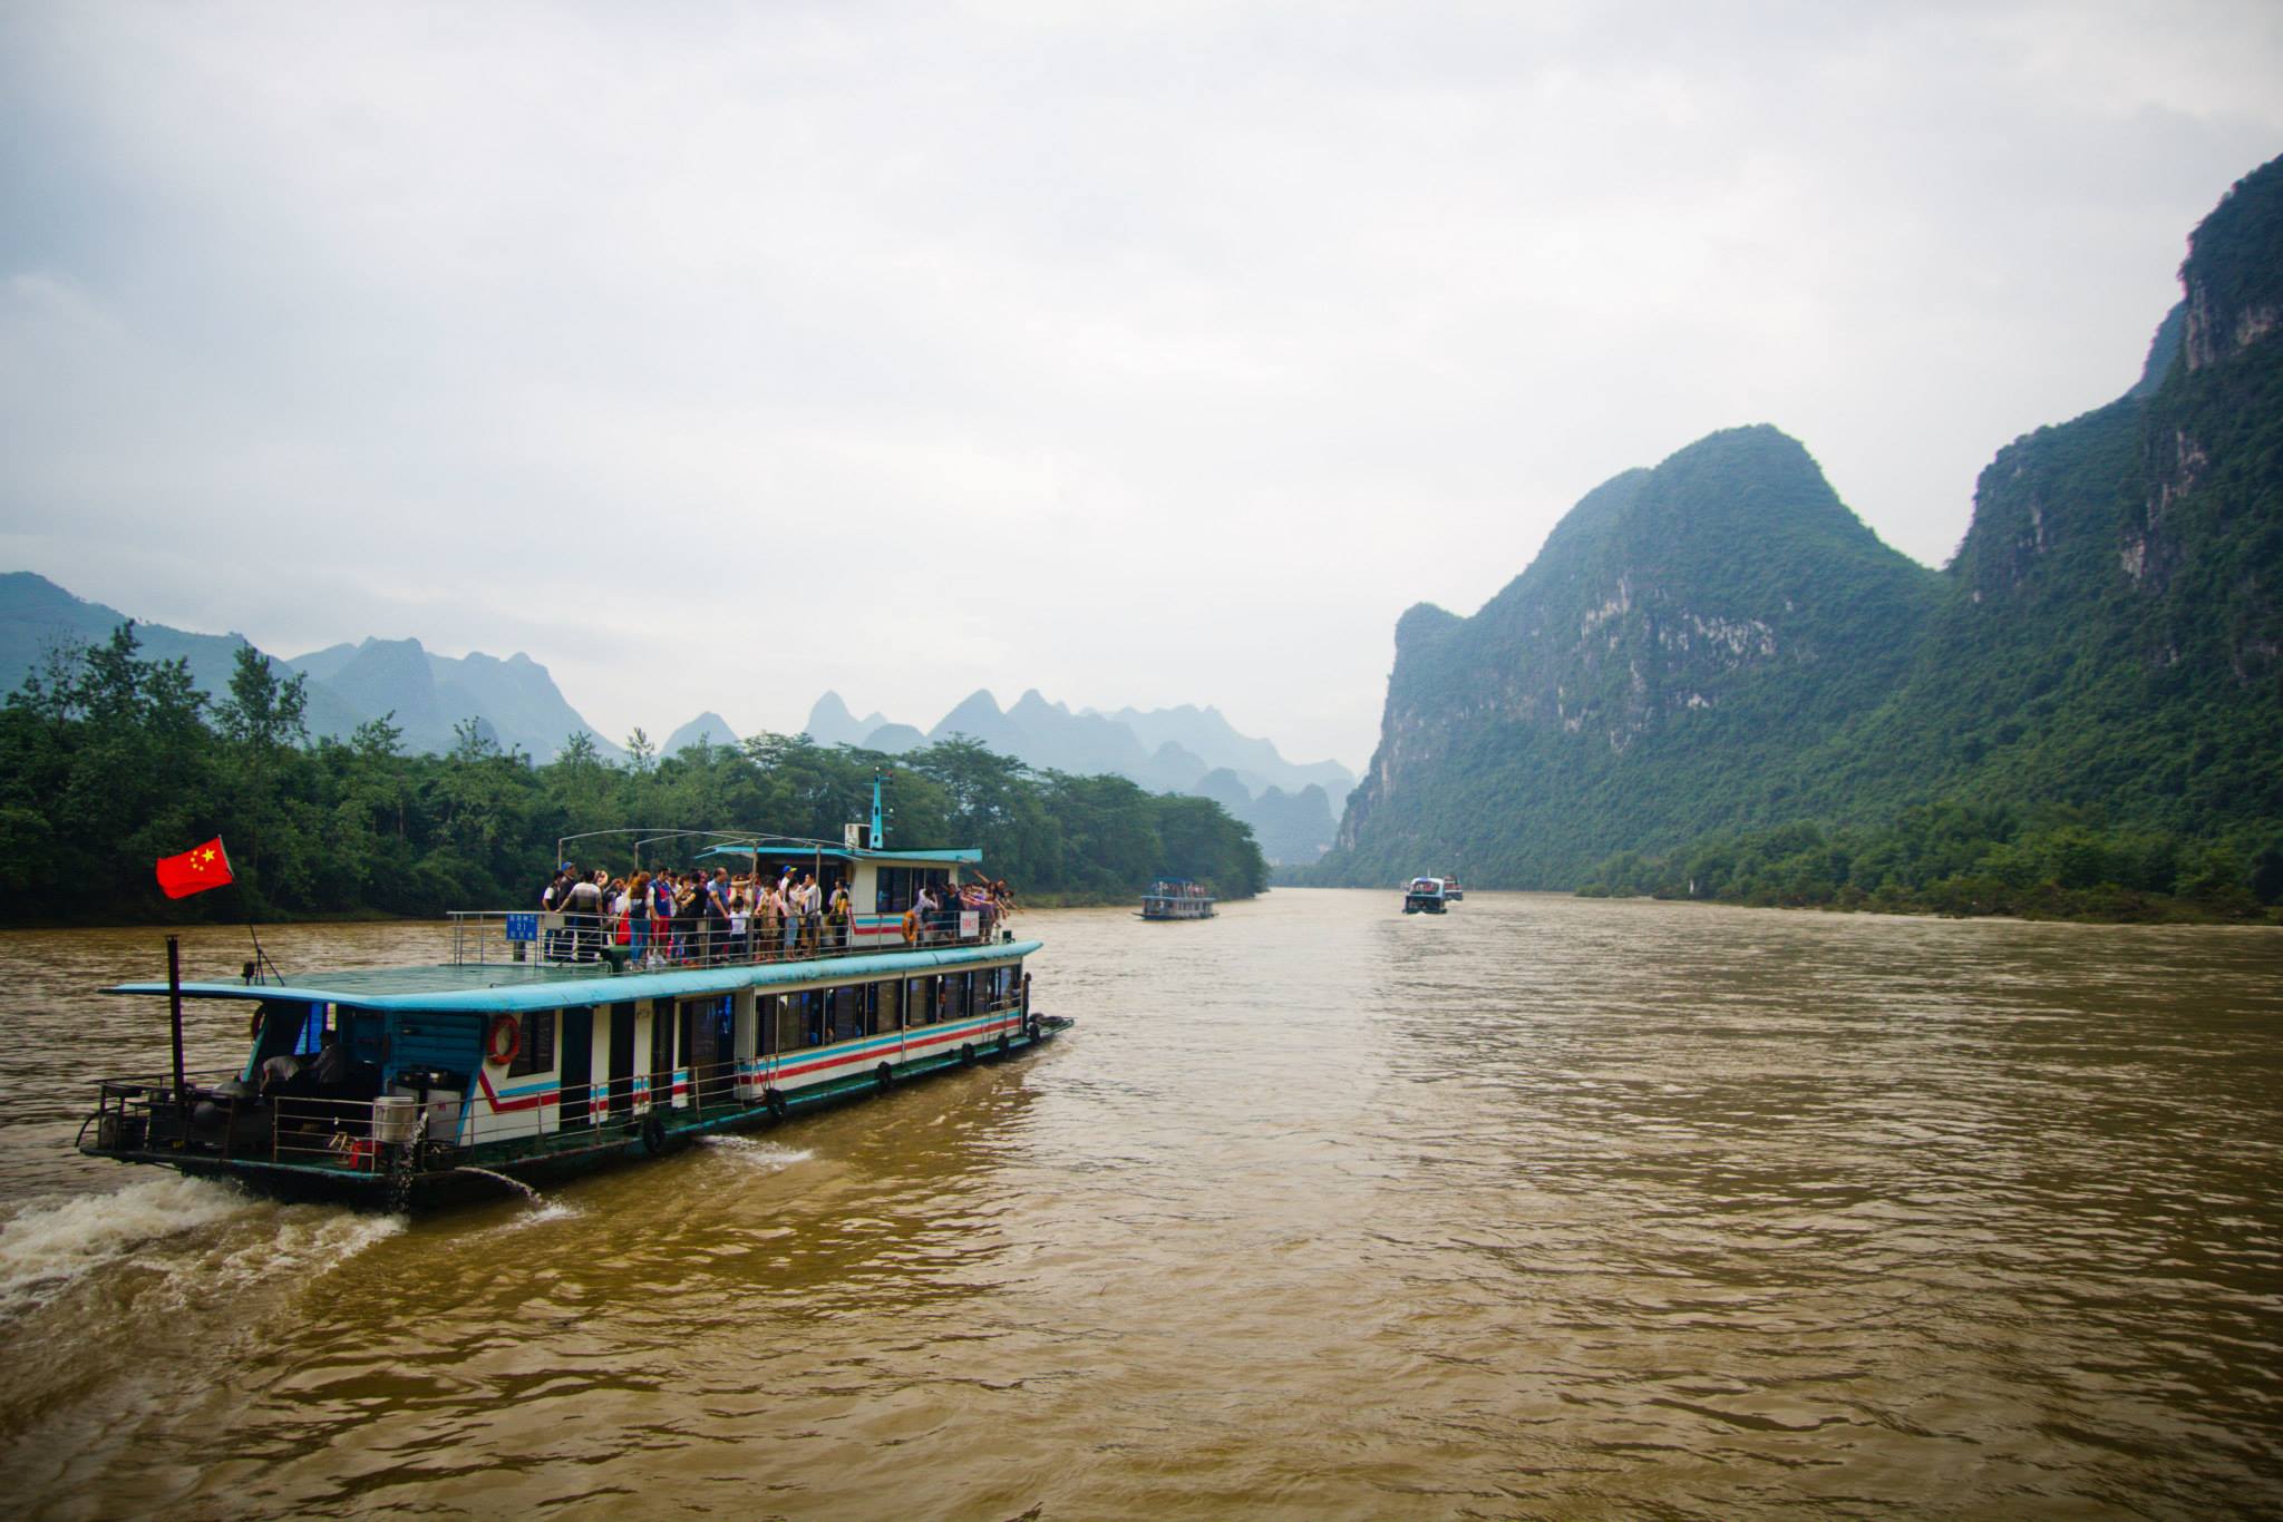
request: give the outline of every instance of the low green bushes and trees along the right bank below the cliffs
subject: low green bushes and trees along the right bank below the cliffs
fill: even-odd
[[[1961,803],[1893,824],[1785,824],[1712,835],[1664,856],[1600,863],[1589,897],[1710,899],[1781,908],[1865,908],[2025,920],[2276,922],[2283,831],[2194,840],[2105,828],[2082,810]]]

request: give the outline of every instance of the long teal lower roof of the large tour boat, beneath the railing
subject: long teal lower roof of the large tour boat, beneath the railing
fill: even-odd
[[[824,956],[799,963],[744,968],[692,968],[687,972],[621,972],[607,968],[534,968],[502,963],[484,968],[368,968],[322,972],[292,983],[183,983],[185,999],[285,999],[349,1004],[393,1011],[523,1013],[527,1009],[578,1009],[621,999],[694,999],[710,993],[767,988],[776,983],[842,983],[865,977],[915,977],[929,968],[1030,956],[1043,942],[1014,940],[989,947],[941,947]],[[119,983],[107,993],[162,995],[167,983]]]

